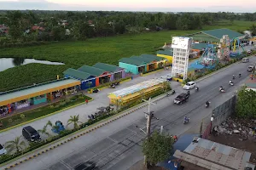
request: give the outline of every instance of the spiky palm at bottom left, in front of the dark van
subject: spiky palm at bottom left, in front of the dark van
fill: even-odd
[[[9,153],[11,152],[13,152],[14,154],[19,153],[20,151],[26,148],[25,142],[20,138],[21,136],[16,137],[15,140],[5,143],[5,148],[9,151]]]

